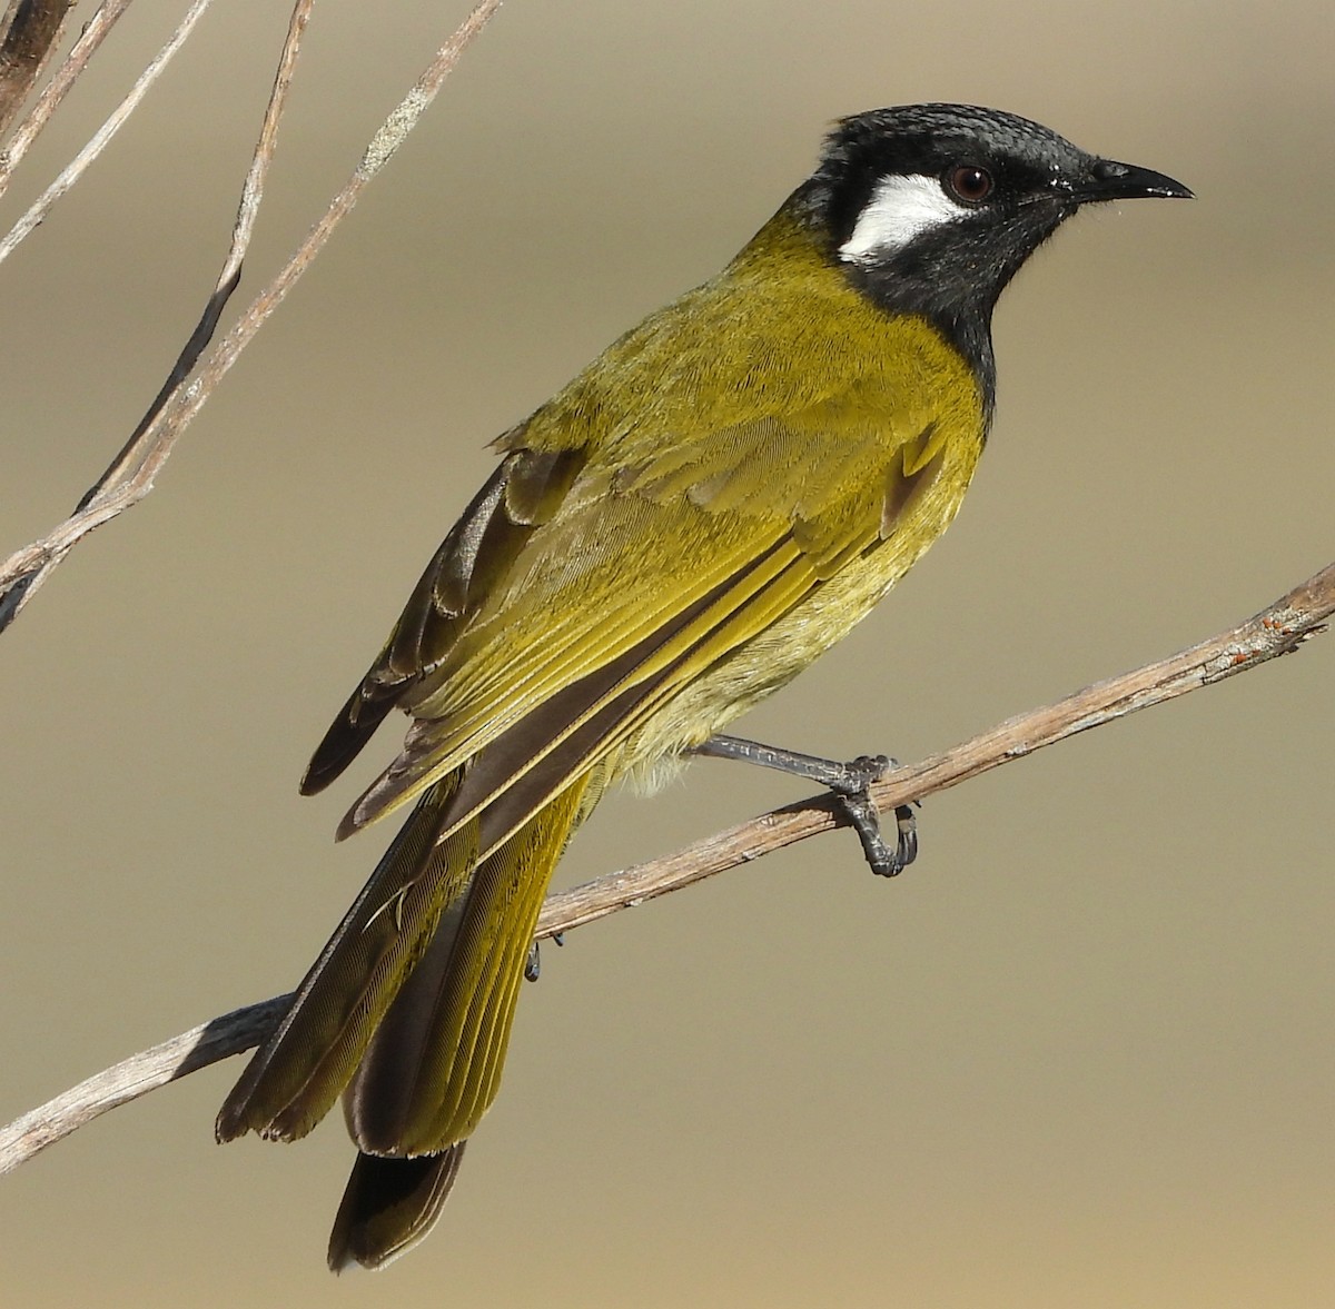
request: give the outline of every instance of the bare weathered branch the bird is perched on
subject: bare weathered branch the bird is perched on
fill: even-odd
[[[896,769],[873,787],[881,810],[921,799],[989,769],[1032,754],[1079,731],[1184,695],[1255,669],[1324,630],[1335,614],[1335,563],[1295,587],[1255,618],[1157,663],[1076,691],[1055,705],[1011,718],[912,767]],[[784,846],[841,826],[829,797],[800,801],[677,854],[549,895],[537,935],[551,937],[618,910],[680,890]],[[127,1101],[258,1045],[291,995],[223,1014],[144,1050],[0,1129],[0,1173]]]

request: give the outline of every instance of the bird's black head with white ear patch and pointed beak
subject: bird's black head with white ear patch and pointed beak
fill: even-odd
[[[992,307],[1063,220],[1096,200],[1191,195],[1028,119],[964,104],[844,119],[804,192],[854,284],[930,319],[988,383]]]

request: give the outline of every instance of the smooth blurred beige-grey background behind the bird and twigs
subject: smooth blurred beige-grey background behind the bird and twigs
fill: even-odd
[[[183,9],[134,7],[7,224]],[[71,508],[194,324],[286,9],[216,7],[0,267],[0,550]],[[318,8],[238,304],[463,12]],[[1324,0],[507,4],[156,492],[0,638],[0,1118],[299,979],[390,835],[330,839],[394,741],[296,781],[485,442],[716,271],[837,115],[999,105],[1199,199],[1087,215],[1024,271],[960,520],[746,730],[913,759],[1327,563],[1332,27]],[[336,1118],[214,1145],[231,1061],[0,1181],[0,1301],[1326,1302],[1332,678],[1324,638],[936,797],[893,885],[834,834],[574,933],[446,1221],[380,1277],[324,1272]],[[561,878],[801,794],[697,763],[605,803]]]

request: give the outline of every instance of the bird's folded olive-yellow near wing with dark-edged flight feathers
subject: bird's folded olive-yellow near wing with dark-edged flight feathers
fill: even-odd
[[[614,750],[884,539],[939,443],[932,415],[905,418],[830,399],[634,463],[598,452],[403,695],[417,722],[343,830],[470,759],[451,822],[539,765],[535,799]]]

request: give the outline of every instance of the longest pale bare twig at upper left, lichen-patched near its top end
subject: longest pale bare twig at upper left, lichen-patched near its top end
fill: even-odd
[[[256,296],[231,331],[214,347],[198,376],[180,388],[158,414],[139,440],[139,450],[117,460],[124,475],[108,482],[87,504],[65,519],[51,534],[12,554],[0,564],[0,631],[3,631],[61,559],[93,528],[111,522],[154,488],[158,471],[171,456],[180,434],[204,407],[218,383],[250,344],[268,316],[286,299],[302,274],[323,248],[335,227],[356,204],[366,184],[394,156],[403,139],[417,125],[427,105],[435,99],[459,56],[482,31],[501,0],[479,0],[455,33],[437,51],[435,57],[380,125],[362,155],[360,163],[342,191],[330,201],[324,216],[315,224],[296,254],[274,280]]]

